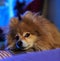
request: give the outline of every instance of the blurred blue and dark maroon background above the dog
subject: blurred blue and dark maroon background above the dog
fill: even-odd
[[[0,0],[0,26],[7,26],[11,17],[27,10],[40,12],[60,30],[60,0]]]

